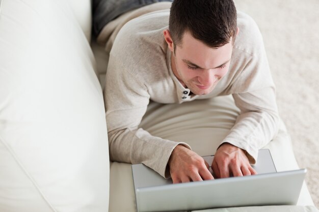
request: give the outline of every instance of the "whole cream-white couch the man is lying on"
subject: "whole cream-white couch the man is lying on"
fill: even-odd
[[[109,163],[90,0],[0,1],[0,211],[136,211],[130,165]],[[152,103],[141,127],[209,155],[237,114],[231,97]],[[283,124],[265,148],[298,168]],[[298,205],[206,211],[317,211],[305,184]]]

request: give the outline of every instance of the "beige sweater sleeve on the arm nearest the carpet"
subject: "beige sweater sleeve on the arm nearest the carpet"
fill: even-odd
[[[241,113],[223,140],[223,143],[228,142],[246,150],[252,164],[256,163],[258,149],[277,134],[279,122],[275,85],[262,40],[255,45],[259,49],[258,53],[250,54],[246,60],[238,60],[238,64],[234,65],[240,74],[231,86],[231,93]]]

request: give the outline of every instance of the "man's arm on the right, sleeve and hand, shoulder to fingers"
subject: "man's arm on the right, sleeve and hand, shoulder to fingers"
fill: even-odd
[[[246,52],[241,50],[237,50],[237,55],[234,55],[240,59],[236,60],[237,64],[233,64],[238,75],[231,85],[230,92],[241,113],[218,148],[218,157],[212,164],[213,170],[220,172],[221,177],[228,176],[228,170],[233,174],[241,171],[243,175],[249,174],[252,168],[248,161],[254,164],[258,150],[267,145],[278,131],[279,115],[275,85],[259,31],[256,33],[254,47],[257,49],[256,52],[246,54],[246,57],[242,56]],[[245,155],[248,160],[245,159]],[[254,172],[250,171],[250,174]]]

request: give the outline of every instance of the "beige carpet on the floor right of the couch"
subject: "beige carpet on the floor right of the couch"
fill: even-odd
[[[263,35],[280,115],[319,207],[319,0],[234,0]]]

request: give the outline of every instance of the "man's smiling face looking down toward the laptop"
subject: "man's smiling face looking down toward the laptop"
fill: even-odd
[[[182,85],[194,94],[209,94],[228,72],[231,41],[218,49],[212,49],[186,32],[181,45],[176,46],[175,54],[173,49],[172,70]]]

